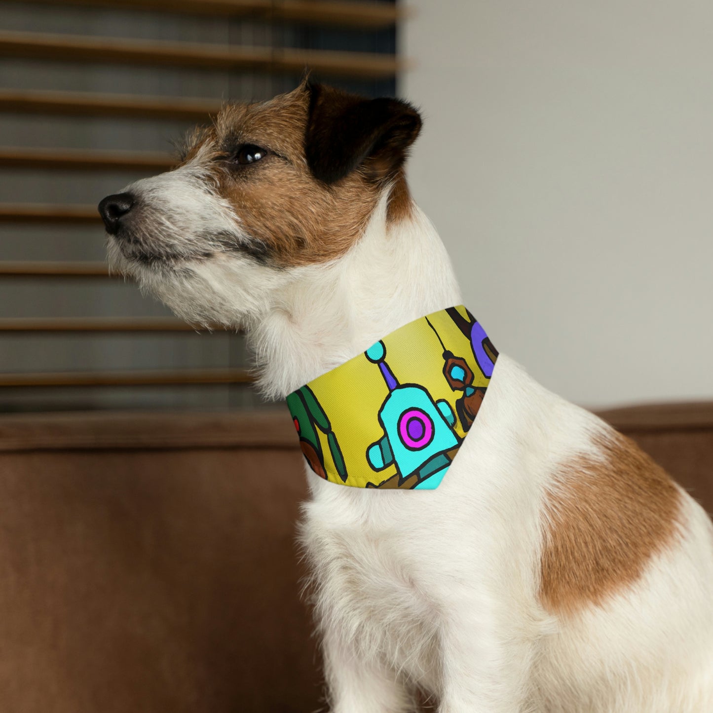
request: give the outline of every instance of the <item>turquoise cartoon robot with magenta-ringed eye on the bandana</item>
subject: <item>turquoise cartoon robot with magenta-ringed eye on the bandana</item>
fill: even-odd
[[[384,342],[376,342],[365,354],[379,366],[389,389],[378,414],[384,436],[366,449],[366,460],[374,471],[396,466],[396,476],[369,486],[438,487],[461,443],[453,430],[456,414],[448,401],[434,401],[423,386],[399,384],[386,364]]]

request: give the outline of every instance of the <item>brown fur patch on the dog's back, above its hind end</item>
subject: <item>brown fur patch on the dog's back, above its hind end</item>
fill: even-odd
[[[540,599],[558,613],[602,605],[677,534],[681,495],[667,473],[615,431],[597,445],[601,460],[561,466],[545,502]]]

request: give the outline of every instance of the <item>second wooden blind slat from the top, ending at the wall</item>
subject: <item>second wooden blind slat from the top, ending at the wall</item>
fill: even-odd
[[[0,56],[93,63],[193,66],[205,69],[390,78],[404,68],[395,56],[294,48],[115,39],[41,32],[0,32]]]

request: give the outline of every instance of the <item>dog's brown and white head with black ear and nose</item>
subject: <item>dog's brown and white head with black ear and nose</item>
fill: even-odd
[[[249,321],[290,272],[344,255],[385,190],[393,220],[408,212],[420,128],[407,103],[307,82],[229,104],[177,168],[101,201],[111,265],[183,317]]]

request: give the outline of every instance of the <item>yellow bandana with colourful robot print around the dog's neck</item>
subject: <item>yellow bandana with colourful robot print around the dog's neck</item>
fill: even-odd
[[[437,488],[497,358],[462,305],[399,327],[287,396],[309,467],[355,488]]]

